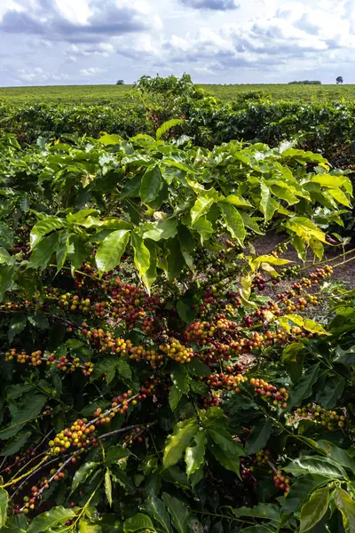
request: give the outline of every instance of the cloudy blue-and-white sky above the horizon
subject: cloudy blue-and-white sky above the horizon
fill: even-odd
[[[355,0],[0,0],[0,85],[355,83]]]

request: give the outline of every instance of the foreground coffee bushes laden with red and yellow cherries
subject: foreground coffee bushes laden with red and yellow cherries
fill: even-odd
[[[1,533],[355,530],[351,173],[199,145],[186,83],[124,135],[2,123]]]

